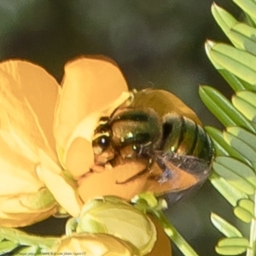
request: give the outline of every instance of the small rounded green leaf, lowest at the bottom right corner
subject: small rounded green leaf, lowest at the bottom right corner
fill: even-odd
[[[249,241],[246,238],[224,238],[218,241],[215,250],[222,255],[237,255],[246,252]]]

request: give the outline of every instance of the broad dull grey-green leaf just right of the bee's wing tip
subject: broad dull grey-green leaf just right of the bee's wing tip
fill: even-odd
[[[247,195],[253,195],[253,185],[248,183],[247,180],[242,176],[232,172],[232,169],[230,169],[228,166],[224,166],[223,164],[219,164],[218,162],[214,161],[213,169],[218,173],[218,175],[224,177],[224,179],[236,189],[241,190],[241,192],[246,193]]]

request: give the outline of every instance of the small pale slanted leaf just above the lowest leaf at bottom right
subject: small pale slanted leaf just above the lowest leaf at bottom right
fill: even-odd
[[[241,232],[235,226],[221,218],[216,213],[211,213],[211,221],[215,228],[227,237],[242,237]]]

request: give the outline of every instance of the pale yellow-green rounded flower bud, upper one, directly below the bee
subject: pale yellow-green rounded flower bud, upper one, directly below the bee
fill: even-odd
[[[119,237],[131,242],[142,255],[149,253],[156,241],[156,230],[152,221],[128,202],[113,196],[85,204],[76,231]]]

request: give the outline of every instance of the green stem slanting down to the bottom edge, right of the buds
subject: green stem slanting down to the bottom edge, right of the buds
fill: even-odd
[[[154,214],[156,218],[159,219],[160,224],[166,232],[166,235],[170,237],[170,239],[177,245],[179,250],[185,256],[199,256],[195,253],[194,249],[190,247],[189,243],[184,240],[183,236],[181,236],[177,230],[172,226],[169,220],[166,218],[166,215],[162,211],[150,211]]]

